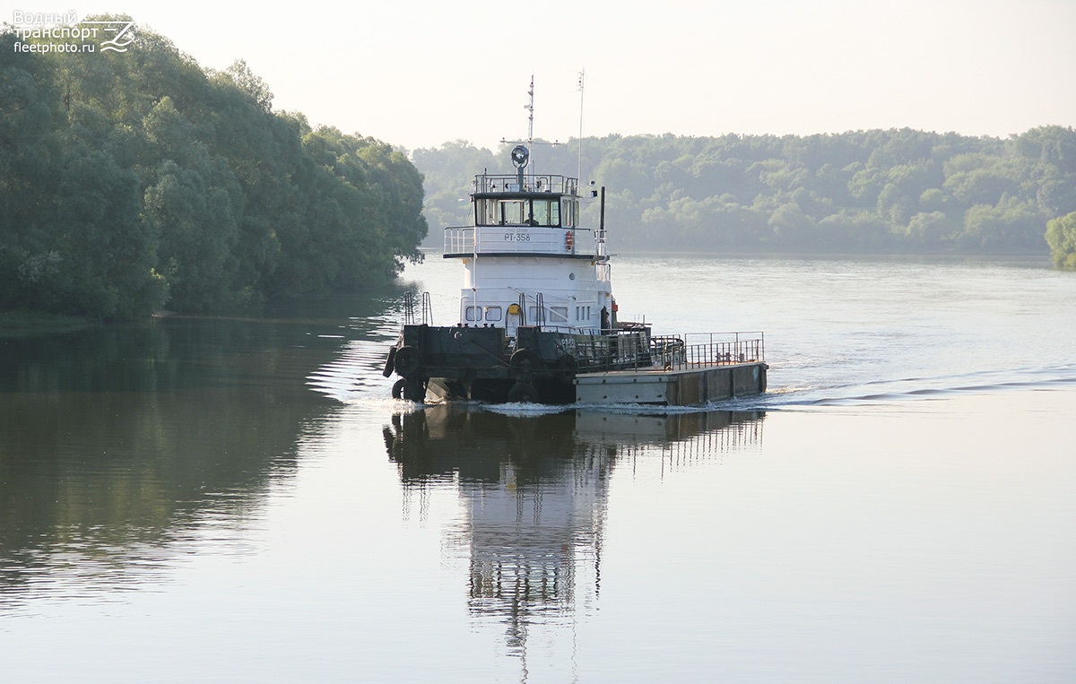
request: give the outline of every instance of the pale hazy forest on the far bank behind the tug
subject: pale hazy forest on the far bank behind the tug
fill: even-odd
[[[470,220],[471,180],[510,172],[509,147],[457,141],[412,154],[435,228],[428,244]],[[1076,212],[1076,131],[1058,126],[1005,140],[909,129],[609,136],[584,138],[581,163],[579,152],[576,140],[536,142],[533,158],[539,173],[581,167],[581,182],[607,187],[620,251],[1045,255],[1047,223]],[[596,223],[594,203],[587,211]]]

